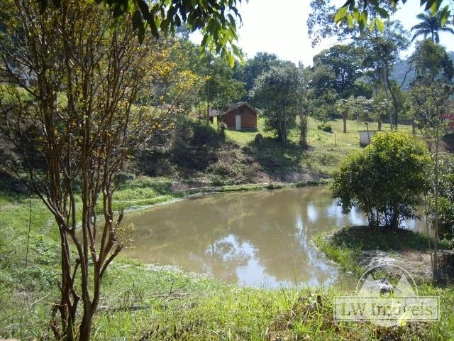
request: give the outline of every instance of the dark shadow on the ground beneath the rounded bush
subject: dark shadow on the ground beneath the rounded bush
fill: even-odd
[[[409,229],[387,229],[386,227],[353,226],[344,227],[330,238],[337,247],[380,251],[429,251],[428,239],[419,232]],[[431,241],[433,245],[433,241]],[[448,244],[439,243],[440,249]]]

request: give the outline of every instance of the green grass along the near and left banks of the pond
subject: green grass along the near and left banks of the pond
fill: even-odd
[[[295,185],[304,185],[299,183]],[[277,184],[276,186],[279,186]],[[224,190],[258,190],[258,185]],[[153,202],[173,196],[170,180],[135,178],[118,191],[121,205],[140,198]],[[184,193],[186,194],[186,193]],[[139,198],[139,199],[138,199]],[[140,199],[142,200],[142,199]],[[150,200],[150,201],[147,201]],[[119,204],[120,205],[120,204]],[[58,297],[58,237],[50,215],[32,199],[31,249],[25,269],[29,199],[0,193],[0,336],[19,340],[52,337],[50,308]],[[452,288],[423,286],[444,307],[454,303]],[[448,340],[454,316],[443,310],[435,324],[384,329],[370,323],[334,323],[331,288],[267,290],[239,288],[172,267],[147,266],[118,258],[106,272],[94,340]]]

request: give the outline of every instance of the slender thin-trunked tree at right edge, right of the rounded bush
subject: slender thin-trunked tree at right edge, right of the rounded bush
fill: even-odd
[[[451,123],[450,96],[454,93],[450,81],[454,75],[453,63],[445,49],[431,40],[423,40],[413,55],[416,77],[411,83],[413,89],[409,96],[409,107],[432,153],[433,169],[431,175],[432,199],[429,205],[432,227],[435,234],[433,249],[433,278],[438,278],[438,237],[440,224],[448,219],[449,200],[441,191],[441,136]],[[441,216],[439,216],[441,215]],[[448,215],[446,217],[445,215]]]

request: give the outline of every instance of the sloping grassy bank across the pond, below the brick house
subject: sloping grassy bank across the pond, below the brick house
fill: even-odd
[[[309,148],[302,149],[297,129],[289,132],[287,148],[272,132],[263,129],[259,119],[258,131],[226,131],[222,139],[216,123],[187,121],[177,126],[174,136],[164,148],[145,155],[140,169],[145,174],[178,178],[205,185],[236,185],[242,183],[291,182],[328,178],[338,163],[352,151],[360,149],[356,121],[348,121],[348,133],[342,133],[341,119],[329,121],[333,132],[317,129],[319,121],[309,119]],[[365,130],[362,123],[359,130]],[[370,124],[369,129],[377,129]],[[389,129],[384,124],[383,129]],[[411,132],[410,126],[399,126]],[[261,149],[255,135],[264,136]],[[184,136],[184,137],[182,137]]]

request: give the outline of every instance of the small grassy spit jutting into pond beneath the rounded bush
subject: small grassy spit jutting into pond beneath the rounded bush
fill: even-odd
[[[372,239],[365,244],[365,238]],[[413,274],[419,283],[432,283],[431,249],[427,247],[428,237],[407,229],[383,231],[371,227],[343,227],[328,233],[317,234],[314,244],[328,259],[344,272],[355,276],[375,266],[386,264],[400,266]],[[450,262],[452,251],[448,244],[440,242],[439,257],[445,265]],[[448,267],[443,278],[452,283],[454,269]]]

